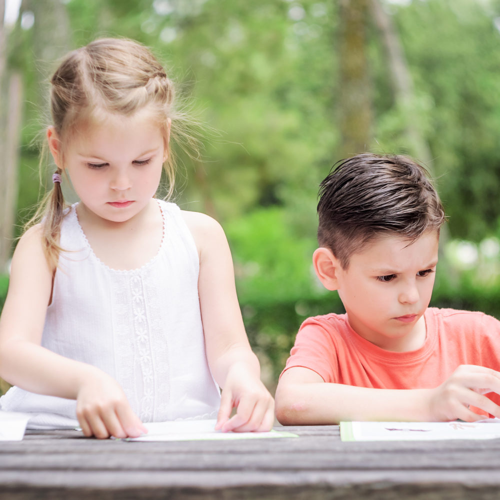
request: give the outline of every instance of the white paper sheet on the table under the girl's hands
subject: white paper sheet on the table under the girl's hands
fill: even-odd
[[[286,431],[270,432],[220,432],[215,430],[216,420],[179,420],[144,423],[147,434],[130,437],[127,441],[194,441],[213,439],[262,439],[274,437],[298,437]]]

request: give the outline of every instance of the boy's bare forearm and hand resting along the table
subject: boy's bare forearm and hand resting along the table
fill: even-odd
[[[459,366],[432,389],[374,389],[325,383],[313,370],[294,366],[279,380],[276,417],[283,425],[328,425],[340,421],[446,421],[484,418],[468,406],[500,417],[500,406],[482,395],[500,392],[500,373],[474,365]]]

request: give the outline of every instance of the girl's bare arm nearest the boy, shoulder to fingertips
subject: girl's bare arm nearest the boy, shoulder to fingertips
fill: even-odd
[[[207,215],[182,213],[199,253],[198,294],[208,364],[222,388],[216,428],[269,430],[274,401],[260,381],[260,366],[246,337],[224,231]],[[236,413],[230,417],[233,407]]]

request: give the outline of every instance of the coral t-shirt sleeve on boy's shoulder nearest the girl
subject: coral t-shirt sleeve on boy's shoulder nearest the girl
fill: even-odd
[[[295,366],[315,371],[325,382],[335,382],[338,379],[334,339],[314,318],[302,323],[281,375]]]

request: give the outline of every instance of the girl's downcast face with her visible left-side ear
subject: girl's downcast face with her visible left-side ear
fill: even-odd
[[[133,116],[108,114],[78,129],[64,144],[63,155],[53,129],[47,136],[55,163],[68,173],[83,209],[123,222],[154,196],[166,151],[161,128],[146,110]]]

